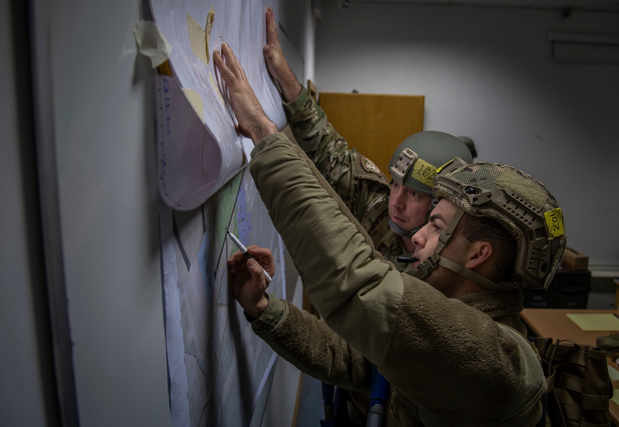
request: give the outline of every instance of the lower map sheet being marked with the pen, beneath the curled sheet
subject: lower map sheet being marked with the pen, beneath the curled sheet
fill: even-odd
[[[246,246],[271,248],[268,291],[280,298],[285,248],[248,168],[191,211],[160,203],[159,217],[172,426],[260,426],[277,354],[228,289],[227,259],[238,248],[225,228]]]

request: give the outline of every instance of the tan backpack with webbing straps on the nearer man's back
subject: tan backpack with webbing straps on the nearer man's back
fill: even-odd
[[[608,399],[613,387],[606,352],[588,344],[536,338],[548,384],[547,420],[553,427],[610,427]],[[548,423],[547,423],[548,426]]]

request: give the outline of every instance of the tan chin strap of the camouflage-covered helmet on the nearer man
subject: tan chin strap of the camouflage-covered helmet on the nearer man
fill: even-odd
[[[436,244],[434,253],[430,257],[428,257],[427,260],[423,261],[423,263],[420,263],[417,266],[417,271],[415,272],[414,276],[417,277],[417,279],[423,280],[425,279],[425,277],[430,276],[430,273],[432,273],[433,269],[441,265],[444,268],[448,268],[451,271],[454,271],[455,273],[460,274],[462,277],[466,277],[470,281],[475,282],[478,285],[482,285],[483,287],[486,287],[488,289],[491,289],[491,290],[513,289],[515,287],[515,285],[513,284],[506,284],[504,282],[501,282],[501,284],[497,284],[493,281],[486,279],[480,274],[477,274],[474,271],[458,263],[454,263],[454,261],[448,260],[444,256],[439,255],[441,250],[443,250],[443,248],[447,246],[447,243],[449,243],[449,239],[451,239],[451,235],[453,234],[454,230],[456,229],[457,225],[459,224],[463,216],[464,216],[464,210],[462,210],[462,208],[458,208],[458,210],[454,214],[451,221],[449,221],[449,225],[447,226],[447,228],[444,229],[443,232],[441,232],[441,235],[439,235],[438,243]]]

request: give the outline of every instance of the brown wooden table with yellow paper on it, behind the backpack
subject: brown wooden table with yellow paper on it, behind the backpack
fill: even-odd
[[[610,331],[585,332],[571,321],[566,313],[612,313],[619,316],[619,310],[568,310],[564,308],[525,308],[520,315],[538,337],[548,337],[553,340],[571,339],[579,344],[595,345],[597,337],[610,335]],[[608,365],[617,367],[610,358],[608,358]],[[619,389],[619,381],[612,383],[613,389]],[[613,424],[619,426],[619,405],[610,400],[608,411]]]

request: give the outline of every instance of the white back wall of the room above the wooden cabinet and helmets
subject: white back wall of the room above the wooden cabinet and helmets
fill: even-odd
[[[619,33],[619,14],[323,2],[319,91],[425,95],[425,129],[543,182],[568,245],[619,264],[619,66],[553,64],[549,31]]]

